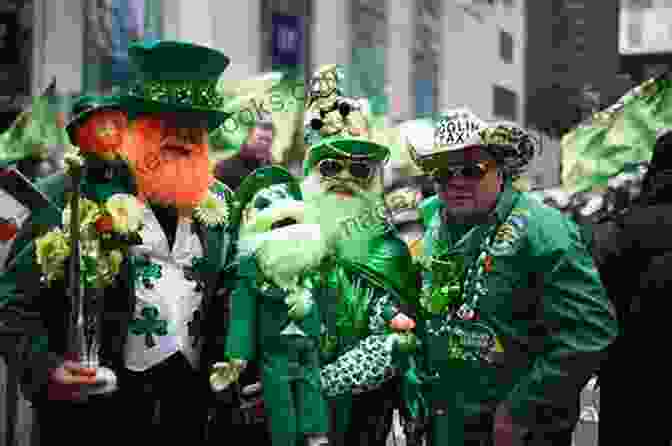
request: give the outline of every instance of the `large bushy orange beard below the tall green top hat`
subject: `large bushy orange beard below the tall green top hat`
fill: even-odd
[[[129,127],[121,148],[135,173],[138,198],[193,209],[208,193],[214,178],[210,172],[208,145],[187,144],[179,156],[161,149],[172,135],[160,118],[147,116]],[[170,151],[172,152],[172,151]]]

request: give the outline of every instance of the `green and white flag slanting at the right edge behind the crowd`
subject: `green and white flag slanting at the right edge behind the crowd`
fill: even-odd
[[[567,133],[561,141],[563,188],[604,188],[629,164],[650,161],[657,132],[672,127],[671,87],[669,73],[644,82]]]

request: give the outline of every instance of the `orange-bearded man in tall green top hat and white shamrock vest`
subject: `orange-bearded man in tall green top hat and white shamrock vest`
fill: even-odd
[[[84,165],[82,199],[105,205],[112,222],[139,223],[140,243],[124,251],[119,275],[103,291],[101,357],[118,378],[116,410],[113,420],[86,409],[71,413],[74,420],[89,414],[73,429],[57,425],[62,416],[51,417],[51,423],[47,417],[52,429],[45,435],[54,443],[88,443],[110,431],[133,444],[175,438],[203,442],[207,370],[224,350],[227,321],[218,290],[229,255],[233,194],[210,172],[207,135],[226,117],[215,84],[229,59],[210,48],[170,41],[133,44],[129,57],[136,82],[116,98],[81,98],[68,125],[79,147],[68,159]],[[63,209],[64,192],[71,189],[66,183],[61,176],[37,187]],[[115,198],[137,212],[112,207]],[[61,216],[43,220],[53,227]],[[96,231],[124,230],[103,220]],[[14,268],[1,277],[0,290],[3,312],[44,318],[31,325],[31,342],[23,351],[26,393],[37,402],[75,404],[86,393],[81,386],[96,384],[99,377],[64,362],[72,353],[62,323],[67,299],[40,280],[45,266],[33,263],[35,243],[24,245]],[[124,429],[115,429],[117,424]]]

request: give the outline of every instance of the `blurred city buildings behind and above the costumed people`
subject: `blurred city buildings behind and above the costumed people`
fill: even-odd
[[[231,57],[224,77],[346,66],[390,124],[466,105],[540,133],[534,188],[560,182],[559,137],[669,67],[669,0],[2,0],[0,129],[55,77],[57,106],[128,79],[137,39]]]

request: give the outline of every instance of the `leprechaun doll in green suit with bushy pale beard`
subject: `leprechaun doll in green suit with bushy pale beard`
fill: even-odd
[[[320,313],[314,271],[329,256],[318,215],[306,210],[296,180],[281,167],[248,176],[237,191],[241,224],[238,282],[231,295],[227,357],[211,384],[236,381],[248,361],[261,369],[272,444],[327,443],[328,413],[320,386]]]

